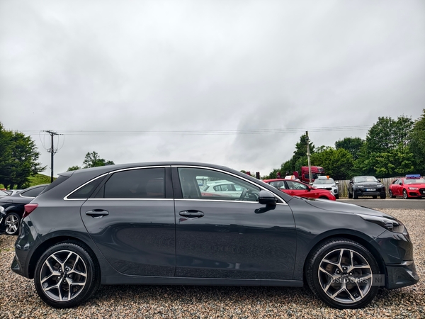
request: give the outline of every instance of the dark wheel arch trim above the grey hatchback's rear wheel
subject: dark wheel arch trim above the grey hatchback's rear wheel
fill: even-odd
[[[57,236],[57,237],[49,238],[45,242],[42,242],[42,244],[39,245],[37,247],[37,249],[33,252],[33,254],[31,255],[31,258],[30,258],[30,262],[28,264],[28,278],[29,279],[34,278],[35,267],[37,266],[38,259],[40,259],[40,257],[42,256],[42,254],[46,250],[48,250],[50,247],[52,247],[53,245],[56,245],[60,242],[69,242],[69,241],[72,241],[72,242],[75,242],[75,243],[81,245],[81,247],[83,247],[84,250],[86,250],[91,255],[91,258],[94,260],[95,263],[97,263],[97,266],[99,266],[98,265],[98,258],[96,256],[95,252],[83,240],[79,239],[78,237],[73,237],[73,236],[69,236],[69,235],[60,235],[60,236]],[[98,271],[101,272],[100,267],[98,267]]]

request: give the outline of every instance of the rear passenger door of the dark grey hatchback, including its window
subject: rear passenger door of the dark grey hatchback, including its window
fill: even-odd
[[[81,206],[89,235],[122,274],[174,276],[171,167],[127,169],[110,175]]]

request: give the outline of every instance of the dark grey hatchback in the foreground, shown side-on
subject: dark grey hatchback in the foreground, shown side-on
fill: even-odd
[[[202,191],[217,181],[239,193]],[[360,308],[380,286],[419,280],[407,230],[392,216],[191,162],[60,174],[26,205],[11,268],[57,308],[101,284],[307,284],[330,306]]]

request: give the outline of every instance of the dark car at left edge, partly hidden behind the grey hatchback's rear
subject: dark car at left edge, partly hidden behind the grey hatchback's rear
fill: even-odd
[[[0,206],[4,208],[6,217],[0,222],[7,235],[16,235],[23,216],[24,206],[38,196],[49,184],[32,186],[23,191],[0,198]]]

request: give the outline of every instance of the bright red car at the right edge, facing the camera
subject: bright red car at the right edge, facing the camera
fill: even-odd
[[[425,198],[425,179],[419,174],[410,174],[401,179],[395,179],[390,185],[390,197]]]

